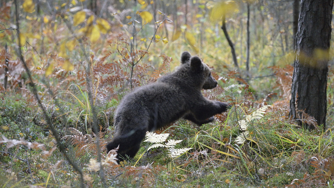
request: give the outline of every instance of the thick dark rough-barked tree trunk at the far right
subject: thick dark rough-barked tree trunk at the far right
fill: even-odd
[[[296,35],[290,117],[300,126],[326,126],[327,73],[333,0],[302,0]],[[312,118],[317,121],[312,122]]]

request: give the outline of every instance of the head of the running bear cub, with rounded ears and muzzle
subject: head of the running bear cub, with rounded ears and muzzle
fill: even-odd
[[[190,72],[199,77],[202,89],[213,89],[217,81],[212,77],[210,68],[197,56],[191,56],[189,52],[181,55],[181,64],[190,64]]]

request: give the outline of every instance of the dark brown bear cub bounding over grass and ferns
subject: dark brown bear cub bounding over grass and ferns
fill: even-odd
[[[231,107],[203,96],[202,89],[216,86],[209,67],[199,57],[183,52],[181,64],[174,72],[123,97],[114,115],[115,134],[107,144],[107,153],[119,147],[118,159],[133,158],[147,131],[168,126],[182,117],[199,126],[213,121],[215,114]]]

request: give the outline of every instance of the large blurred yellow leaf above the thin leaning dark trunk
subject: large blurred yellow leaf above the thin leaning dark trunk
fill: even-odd
[[[226,14],[238,11],[238,5],[234,1],[220,1],[213,6],[209,12],[210,20],[221,20],[221,17]]]

